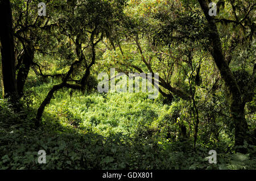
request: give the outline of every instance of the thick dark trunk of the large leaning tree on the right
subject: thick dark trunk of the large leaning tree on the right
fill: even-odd
[[[212,54],[214,62],[217,65],[218,70],[220,70],[221,77],[224,79],[225,85],[229,90],[230,115],[231,121],[235,127],[235,145],[241,146],[243,145],[243,141],[248,141],[249,138],[247,134],[249,129],[247,127],[244,113],[245,105],[242,103],[241,91],[237,85],[234,75],[232,74],[232,71],[229,69],[228,63],[225,61],[221,48],[220,36],[218,35],[218,29],[212,16],[208,14],[209,8],[207,2],[204,0],[198,0],[198,2],[200,3],[205,18],[209,23],[209,39],[212,43],[212,49],[210,49],[210,53]]]

